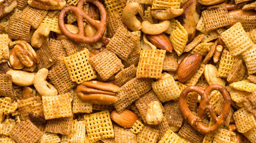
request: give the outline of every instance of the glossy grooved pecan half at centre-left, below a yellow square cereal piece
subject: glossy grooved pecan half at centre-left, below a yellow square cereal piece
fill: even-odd
[[[83,101],[94,104],[112,104],[117,102],[115,92],[120,88],[114,84],[100,81],[86,81],[79,84],[76,88],[76,94]]]

